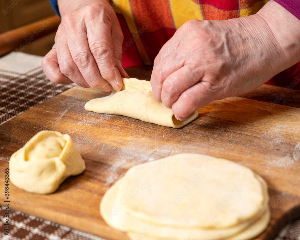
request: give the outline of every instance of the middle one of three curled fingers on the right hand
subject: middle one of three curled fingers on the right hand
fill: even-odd
[[[171,73],[162,84],[161,101],[167,108],[172,108],[174,102],[188,88],[198,83],[204,75],[201,67],[186,64]]]

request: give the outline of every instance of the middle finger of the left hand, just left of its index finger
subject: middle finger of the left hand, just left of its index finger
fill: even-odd
[[[98,41],[101,41],[100,39]],[[67,44],[74,63],[89,86],[107,92],[111,91],[112,87],[102,78],[96,61],[91,54],[86,30],[82,28],[77,30],[73,36],[68,35]]]

